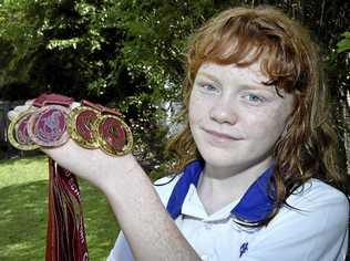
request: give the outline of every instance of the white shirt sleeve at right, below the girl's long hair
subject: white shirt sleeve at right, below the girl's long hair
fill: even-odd
[[[281,209],[267,227],[261,228],[260,236],[249,242],[248,251],[239,260],[346,260],[348,198],[330,187],[312,190],[291,197],[289,203],[299,210]]]

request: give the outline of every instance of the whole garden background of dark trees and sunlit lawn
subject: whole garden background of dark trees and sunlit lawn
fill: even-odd
[[[122,111],[152,179],[169,174],[167,138],[181,126],[191,32],[228,7],[269,4],[320,45],[341,169],[350,174],[350,2],[343,0],[0,0],[0,260],[43,260],[47,159],[7,142],[7,112],[43,92]],[[117,175],[117,174],[116,174]],[[81,181],[91,260],[105,260],[119,228]]]

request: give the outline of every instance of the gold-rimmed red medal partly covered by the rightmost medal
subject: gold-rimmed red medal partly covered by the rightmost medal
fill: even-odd
[[[97,148],[99,143],[93,132],[99,111],[80,106],[72,109],[69,115],[69,134],[73,140],[84,148]]]

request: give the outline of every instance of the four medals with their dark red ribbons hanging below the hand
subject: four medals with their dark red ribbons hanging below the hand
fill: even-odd
[[[21,150],[58,147],[72,138],[87,149],[110,156],[128,154],[130,127],[121,113],[99,104],[59,94],[42,94],[9,125],[8,139]],[[75,104],[75,103],[74,103]],[[47,261],[89,260],[81,195],[74,174],[49,158],[49,218]]]

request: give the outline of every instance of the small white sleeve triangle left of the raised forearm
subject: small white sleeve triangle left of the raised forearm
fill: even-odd
[[[113,249],[110,252],[107,261],[134,261],[133,253],[128,247],[128,243],[124,237],[123,231],[120,232],[114,243]]]

